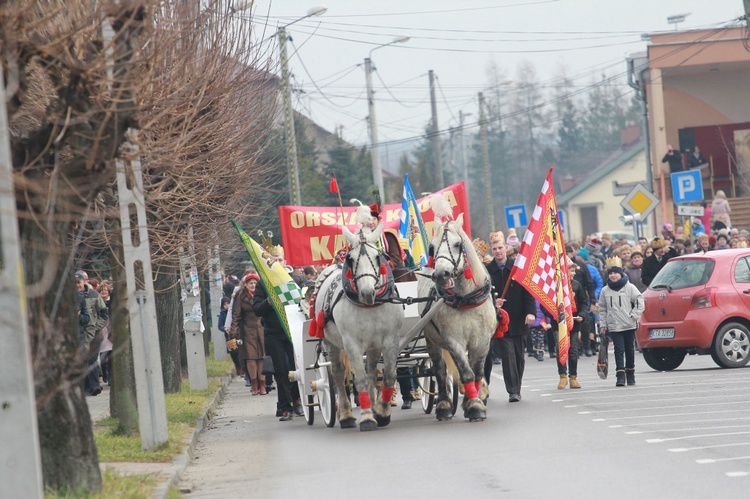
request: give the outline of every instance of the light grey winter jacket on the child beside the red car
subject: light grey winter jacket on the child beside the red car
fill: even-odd
[[[623,280],[625,283],[620,287]],[[645,308],[643,295],[628,282],[627,275],[623,274],[616,283],[607,279],[607,285],[599,295],[599,326],[611,333],[636,329]]]

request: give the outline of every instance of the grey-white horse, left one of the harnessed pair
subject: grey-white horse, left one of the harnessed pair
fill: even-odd
[[[369,208],[364,208],[363,213],[366,211],[369,216]],[[376,430],[390,423],[404,309],[402,305],[383,301],[396,291],[385,255],[376,247],[382,231],[379,225],[374,231],[361,228],[355,235],[343,227],[351,246],[346,262],[342,269],[324,271],[316,290],[315,314],[325,317],[320,325],[325,324],[324,341],[338,390],[341,428],[356,426],[351,402],[346,396],[342,352],[351,363],[359,392],[360,431]],[[321,311],[323,316],[319,315]],[[363,355],[367,355],[366,368]],[[381,355],[383,389],[381,398],[376,400],[375,382]]]

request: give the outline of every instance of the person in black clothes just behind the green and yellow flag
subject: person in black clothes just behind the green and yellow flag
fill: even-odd
[[[268,293],[262,281],[255,288],[253,311],[261,318],[266,353],[273,361],[274,375],[278,384],[276,415],[281,416],[279,421],[290,421],[294,418],[292,410],[298,415],[302,414],[302,406],[299,405],[299,387],[297,382],[292,383],[287,376],[291,370],[290,362],[294,359],[294,347],[276,316],[276,311],[268,299]]]

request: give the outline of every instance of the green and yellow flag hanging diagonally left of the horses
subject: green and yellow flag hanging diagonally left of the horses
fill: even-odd
[[[234,228],[237,229],[240,239],[245,245],[245,250],[247,250],[247,254],[250,256],[250,260],[252,260],[255,270],[258,272],[260,280],[266,288],[268,299],[271,300],[271,305],[273,305],[273,309],[276,312],[276,316],[279,318],[279,322],[281,322],[281,326],[284,328],[284,332],[291,340],[292,337],[289,332],[289,321],[286,318],[284,307],[286,305],[300,302],[302,292],[300,291],[299,286],[297,286],[297,283],[294,282],[283,265],[275,261],[260,244],[248,236],[237,222],[234,220],[231,222],[232,225],[234,225]]]

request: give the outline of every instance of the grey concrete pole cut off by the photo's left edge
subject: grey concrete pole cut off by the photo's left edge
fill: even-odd
[[[44,497],[26,291],[0,65],[0,496]]]

